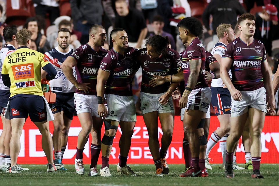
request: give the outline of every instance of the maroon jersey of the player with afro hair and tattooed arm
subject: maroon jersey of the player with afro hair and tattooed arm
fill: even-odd
[[[184,74],[185,87],[187,86],[188,78],[190,75],[190,66],[189,63],[192,60],[201,60],[200,73],[198,75],[198,81],[194,89],[208,87],[208,84],[204,78],[204,67],[205,67],[205,50],[203,44],[196,37],[189,44],[187,49],[184,51],[181,57],[182,60],[182,69]]]

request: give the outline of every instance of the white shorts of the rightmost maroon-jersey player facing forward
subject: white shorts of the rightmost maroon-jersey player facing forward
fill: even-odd
[[[232,97],[232,107],[230,117],[241,116],[248,112],[249,108],[255,108],[263,112],[267,112],[267,100],[265,88],[261,87],[252,91],[240,91],[242,95],[241,101],[235,101]]]

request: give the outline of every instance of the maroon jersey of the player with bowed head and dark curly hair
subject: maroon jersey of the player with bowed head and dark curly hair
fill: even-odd
[[[136,69],[142,67],[142,84],[141,91],[151,94],[164,93],[169,88],[169,82],[152,87],[149,81],[154,78],[154,75],[167,76],[176,74],[181,68],[181,59],[179,53],[174,49],[167,49],[166,53],[156,59],[151,59],[147,55],[146,48],[140,49],[133,53],[133,59],[136,61]]]

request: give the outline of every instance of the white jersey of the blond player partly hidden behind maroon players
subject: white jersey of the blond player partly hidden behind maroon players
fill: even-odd
[[[214,45],[211,53],[212,55],[214,54],[218,54],[220,55],[220,57],[222,57],[223,55],[223,52],[225,51],[226,49],[226,44],[222,43],[222,42],[218,42]],[[219,61],[220,62],[220,61]],[[230,74],[230,79],[232,79],[232,72],[229,70],[229,74]],[[218,78],[218,79],[212,79],[211,81],[211,87],[223,87],[224,86],[224,82],[221,78]]]

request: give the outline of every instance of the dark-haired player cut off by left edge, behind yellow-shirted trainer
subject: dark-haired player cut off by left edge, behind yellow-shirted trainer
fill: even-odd
[[[16,51],[16,48],[18,46],[15,36],[16,34],[17,26],[15,25],[7,26],[3,29],[3,36],[4,40],[6,41],[6,45],[0,51],[0,114],[3,123],[3,131],[0,136],[0,171],[6,171],[7,167],[9,166],[9,163],[11,163],[10,139],[12,133],[10,119],[5,119],[4,117],[4,112],[8,103],[8,99],[10,97],[10,88],[6,87],[3,84],[1,71],[3,61],[6,58],[6,56]],[[25,171],[29,169],[17,166],[17,170]]]

